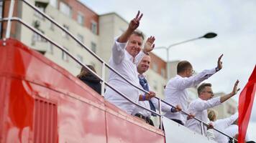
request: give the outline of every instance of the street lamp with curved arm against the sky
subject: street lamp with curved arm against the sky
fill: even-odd
[[[170,65],[168,63],[169,61],[169,49],[173,46],[177,46],[179,44],[184,44],[184,43],[187,43],[188,41],[195,41],[197,39],[202,39],[202,38],[206,38],[206,39],[211,39],[211,38],[214,38],[215,36],[217,36],[216,33],[214,32],[209,32],[207,34],[205,34],[204,36],[199,36],[197,38],[193,38],[193,39],[188,39],[186,41],[180,41],[178,43],[175,43],[175,44],[171,44],[170,46],[166,47],[166,46],[159,46],[159,47],[155,47],[155,49],[166,49],[166,55],[167,55],[167,78],[170,79]]]

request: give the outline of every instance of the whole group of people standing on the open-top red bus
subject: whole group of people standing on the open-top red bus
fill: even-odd
[[[144,34],[137,31],[142,16],[143,14],[140,14],[140,11],[138,11],[137,16],[129,22],[127,30],[114,40],[109,64],[118,71],[119,74],[122,74],[125,79],[129,80],[129,82],[137,87],[141,87],[147,92],[144,93],[132,87],[128,82],[124,81],[122,77],[115,74],[114,71],[109,72],[108,83],[111,87],[114,87],[114,89],[126,95],[132,102],[140,104],[142,107],[151,109],[152,111],[156,111],[156,109],[159,110],[158,99],[155,98],[155,92],[151,91],[150,85],[147,83],[147,78],[145,77],[145,72],[149,69],[151,62],[148,53],[155,47],[155,37],[150,36],[145,41],[145,44],[143,44],[145,39]],[[180,61],[177,66],[177,75],[168,81],[164,91],[165,102],[172,104],[173,107],[163,102],[161,104],[161,111],[165,112],[165,117],[188,127],[194,132],[204,134],[206,137],[214,139],[216,142],[228,142],[229,139],[212,129],[213,127],[222,132],[229,132],[231,137],[237,137],[238,134],[236,124],[238,118],[237,114],[227,119],[216,120],[216,112],[211,110],[211,108],[218,106],[237,94],[239,91],[237,88],[239,81],[237,80],[237,82],[234,83],[232,92],[222,97],[214,97],[211,84],[202,83],[222,69],[222,56],[223,54],[219,56],[217,64],[213,69],[206,69],[198,74],[194,73],[193,66],[189,61]],[[89,68],[95,71],[93,67],[89,66]],[[81,70],[81,74],[78,75],[78,78],[99,94],[101,93],[100,80],[93,77],[85,68]],[[198,99],[188,103],[187,89],[196,86],[198,86]],[[132,102],[129,102],[111,88],[106,87],[104,98],[112,104],[115,104],[116,107],[127,112],[127,114],[132,114],[154,126],[150,117],[155,116],[155,114],[135,106]],[[189,115],[186,116],[186,114],[180,112],[181,110],[187,112]],[[209,125],[207,127],[205,126],[202,131],[201,122],[196,121],[193,117],[201,119],[201,121],[209,123]],[[246,139],[246,141],[248,140],[249,139]]]

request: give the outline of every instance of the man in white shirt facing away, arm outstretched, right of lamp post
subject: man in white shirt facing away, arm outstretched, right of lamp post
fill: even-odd
[[[193,66],[190,62],[180,61],[177,66],[177,75],[170,79],[165,87],[165,101],[173,106],[180,104],[183,111],[186,112],[188,109],[188,92],[186,89],[189,87],[195,87],[222,69],[222,56],[223,54],[219,56],[218,66],[216,68],[201,71],[196,75],[193,75]],[[186,123],[186,115],[181,112],[168,112],[165,114],[165,117],[182,125]]]

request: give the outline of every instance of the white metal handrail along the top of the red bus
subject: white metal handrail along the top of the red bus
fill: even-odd
[[[14,0],[11,0],[11,2],[13,2]],[[75,40],[78,44],[80,44],[80,46],[82,46],[84,49],[86,49],[90,54],[92,54],[96,59],[98,59],[99,61],[101,61],[101,63],[104,65],[104,66],[107,66],[109,69],[111,69],[111,71],[114,71],[115,74],[117,74],[119,77],[122,77],[122,79],[124,79],[124,81],[128,82],[129,84],[132,85],[132,87],[135,87],[136,89],[139,89],[140,91],[142,92],[145,92],[145,93],[149,93],[147,91],[145,91],[145,89],[142,89],[140,87],[137,87],[135,86],[134,84],[132,84],[131,82],[129,82],[129,80],[127,80],[126,78],[124,78],[122,76],[122,74],[119,74],[115,69],[113,69],[111,66],[109,66],[109,64],[106,64],[106,62],[101,59],[99,56],[97,56],[93,51],[91,51],[91,49],[88,49],[81,41],[79,41],[75,36],[73,36],[73,34],[71,34],[67,29],[65,29],[63,26],[60,26],[60,24],[58,24],[57,22],[55,22],[52,18],[50,18],[50,16],[47,16],[47,14],[44,14],[42,11],[40,11],[39,9],[37,9],[36,6],[33,6],[32,4],[29,4],[29,2],[27,0],[20,0],[20,1],[23,1],[25,4],[27,4],[30,8],[34,9],[35,11],[37,11],[38,13],[40,13],[42,16],[45,16],[46,19],[48,19],[50,22],[52,22],[53,24],[55,24],[56,26],[58,26],[61,30],[63,30],[65,32],[65,34],[68,34],[73,40]],[[124,97],[125,99],[127,99],[129,102],[132,102],[132,104],[135,104],[137,105],[137,107],[141,107],[142,109],[145,109],[147,110],[148,112],[151,112],[152,114],[156,114],[157,116],[160,117],[160,124],[162,124],[161,120],[162,120],[162,114],[161,114],[161,111],[159,111],[159,114],[157,112],[154,112],[152,111],[151,109],[147,109],[145,107],[142,107],[140,104],[137,104],[136,102],[133,102],[131,99],[129,99],[129,97],[125,96],[124,94],[122,94],[122,92],[119,92],[118,90],[114,89],[113,87],[111,87],[111,85],[108,83],[108,82],[105,82],[105,80],[101,77],[99,77],[98,74],[96,74],[94,71],[92,71],[90,68],[88,68],[88,66],[84,65],[83,63],[81,63],[81,61],[79,61],[78,59],[76,59],[72,54],[70,54],[65,48],[63,48],[62,46],[56,44],[54,41],[52,41],[51,39],[49,39],[47,36],[45,36],[45,34],[42,34],[41,31],[38,31],[37,29],[35,29],[34,27],[32,26],[29,26],[29,24],[26,24],[24,21],[22,21],[22,19],[19,19],[18,17],[12,17],[12,14],[13,11],[12,9],[14,8],[14,4],[10,4],[10,9],[9,9],[9,17],[8,18],[3,18],[3,19],[0,19],[0,21],[19,21],[20,23],[22,23],[24,26],[26,26],[27,28],[31,29],[32,31],[34,31],[35,33],[39,34],[40,36],[42,36],[43,38],[47,39],[48,41],[50,41],[51,44],[54,44],[55,46],[57,46],[59,49],[63,50],[65,52],[65,54],[68,54],[68,56],[70,56],[72,59],[74,59],[78,64],[80,64],[81,66],[84,66],[86,69],[88,69],[88,71],[91,71],[91,73],[93,73],[96,77],[98,77],[101,82],[103,82],[102,84],[102,87],[104,87],[104,84],[106,84],[108,87],[110,87],[112,90],[114,90],[115,92],[117,92],[118,94],[120,94],[122,97]],[[12,26],[11,24],[8,24],[7,25],[7,29],[10,28],[10,26]],[[10,33],[10,31],[8,31]],[[6,38],[9,38],[8,37],[8,34],[7,34],[7,31],[6,31]],[[104,67],[103,66],[103,67]],[[104,69],[102,70],[104,71]],[[103,74],[103,77],[104,77],[104,73]],[[103,88],[104,90],[104,88]],[[102,92],[101,90],[101,94],[104,93]],[[165,104],[168,104],[170,107],[174,107],[172,104],[169,104],[168,102],[165,102],[164,100],[158,98],[158,97],[155,97],[156,99],[158,99],[159,101],[159,107],[161,105],[161,102],[165,103]],[[175,108],[175,107],[174,107]],[[161,107],[159,108],[161,109]],[[182,112],[183,114],[186,114],[186,115],[189,115],[188,113],[184,112],[183,110],[180,111]],[[203,124],[204,126],[209,126],[209,124],[206,124],[205,122],[202,122],[200,119],[197,119],[196,117],[193,117],[193,119],[196,119],[198,122],[201,122],[201,124]],[[162,126],[160,126],[162,127]],[[214,128],[213,128],[214,129]],[[229,137],[229,135],[225,134],[224,132],[221,132],[219,131],[219,129],[214,129],[216,130],[217,132],[221,133],[221,134],[224,134],[225,136]],[[234,141],[237,141],[237,139],[234,139],[233,137],[230,137],[232,138]]]

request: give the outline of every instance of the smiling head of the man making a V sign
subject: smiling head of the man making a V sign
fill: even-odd
[[[140,50],[142,49],[142,44],[144,40],[144,35],[140,31],[133,31],[132,35],[129,36],[128,44],[126,47],[127,52],[135,57],[139,54]]]

